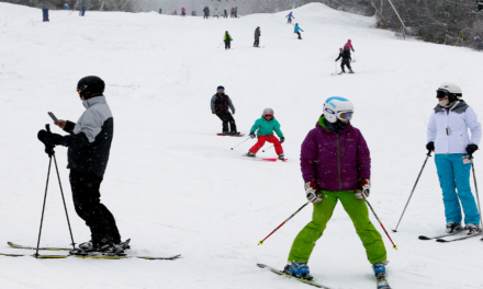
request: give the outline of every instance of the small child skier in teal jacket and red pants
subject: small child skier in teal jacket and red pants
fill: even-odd
[[[276,152],[279,155],[279,160],[284,160],[285,155],[283,154],[282,143],[285,141],[283,137],[282,130],[280,130],[280,124],[273,116],[272,108],[265,108],[261,117],[255,122],[255,125],[250,129],[250,138],[256,137],[256,132],[258,129],[258,142],[255,143],[254,147],[245,154],[249,158],[255,158],[257,152],[263,147],[265,142],[268,141],[273,143],[276,147]],[[280,140],[273,136],[273,130],[279,136]]]

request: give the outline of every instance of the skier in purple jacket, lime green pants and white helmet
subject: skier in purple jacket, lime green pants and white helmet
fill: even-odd
[[[371,158],[360,130],[350,124],[352,115],[353,105],[347,99],[327,99],[323,115],[302,143],[302,176],[314,212],[312,221],[293,241],[284,273],[313,279],[308,258],[340,200],[366,247],[379,285],[383,285],[386,251],[381,234],[369,220],[363,199],[369,197],[371,188]]]

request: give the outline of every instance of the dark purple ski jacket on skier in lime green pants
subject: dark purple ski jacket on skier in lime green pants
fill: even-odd
[[[322,190],[353,190],[359,178],[371,177],[368,144],[350,124],[336,134],[317,123],[302,143],[300,162],[304,181]]]

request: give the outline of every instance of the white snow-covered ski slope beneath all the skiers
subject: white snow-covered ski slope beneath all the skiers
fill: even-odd
[[[374,30],[373,19],[323,4],[294,10],[297,41],[287,12],[203,20],[157,13],[88,12],[86,18],[0,3],[0,246],[35,245],[48,158],[36,139],[52,123],[47,112],[77,120],[83,107],[77,81],[99,76],[115,119],[111,159],[101,187],[131,254],[182,254],[175,262],[34,259],[0,256],[1,288],[306,288],[262,270],[282,268],[297,232],[311,220],[306,207],[258,246],[305,200],[300,146],[340,95],[356,106],[352,124],[372,153],[370,201],[384,226],[396,226],[426,158],[426,125],[443,81],[461,85],[481,116],[481,54]],[[252,35],[261,27],[261,46]],[[222,36],[229,31],[233,50]],[[356,74],[330,76],[338,48],[351,38]],[[289,162],[242,159],[254,140],[217,137],[221,122],[210,99],[224,85],[238,129],[248,132],[265,107],[282,125]],[[61,134],[58,128],[54,132]],[[259,155],[274,157],[269,150]],[[476,172],[483,184],[483,163]],[[57,161],[76,242],[89,240],[70,196],[66,149]],[[372,216],[371,216],[372,218]],[[380,229],[377,220],[374,224]],[[393,288],[483,288],[480,239],[440,244],[419,234],[443,231],[441,193],[433,158],[400,232],[387,245]],[[382,232],[382,230],[380,230]],[[55,174],[50,176],[41,244],[66,246],[70,238]],[[60,253],[59,253],[60,254]],[[310,261],[316,280],[330,288],[374,288],[372,268],[350,219],[338,206]]]

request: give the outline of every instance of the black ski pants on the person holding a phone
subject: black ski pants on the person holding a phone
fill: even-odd
[[[86,221],[91,230],[91,240],[99,243],[102,238],[108,236],[115,244],[121,243],[114,216],[101,204],[99,188],[102,177],[70,170],[69,181],[72,188],[74,207],[77,215]]]

